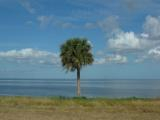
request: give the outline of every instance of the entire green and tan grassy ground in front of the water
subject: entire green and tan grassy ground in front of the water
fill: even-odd
[[[0,97],[0,120],[160,120],[160,99]]]

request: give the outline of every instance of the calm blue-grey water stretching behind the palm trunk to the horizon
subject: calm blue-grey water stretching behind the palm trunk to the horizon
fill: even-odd
[[[160,97],[160,80],[81,80],[81,94],[87,97]],[[75,96],[72,79],[0,79],[1,96]]]

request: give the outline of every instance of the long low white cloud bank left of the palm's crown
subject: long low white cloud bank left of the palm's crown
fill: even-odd
[[[59,56],[56,53],[40,51],[32,48],[21,50],[9,50],[0,52],[0,59],[14,62],[27,62],[35,64],[59,64]]]

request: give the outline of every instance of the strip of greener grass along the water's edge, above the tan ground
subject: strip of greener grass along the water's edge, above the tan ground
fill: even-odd
[[[160,99],[143,98],[85,98],[85,97],[0,97],[0,105],[3,106],[26,106],[26,107],[108,107],[108,106],[150,106],[160,105]]]

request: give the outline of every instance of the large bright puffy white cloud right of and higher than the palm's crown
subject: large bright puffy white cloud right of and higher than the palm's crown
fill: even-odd
[[[112,35],[107,41],[108,47],[113,51],[139,52],[146,51],[160,44],[158,40],[152,40],[146,33],[119,32]]]

